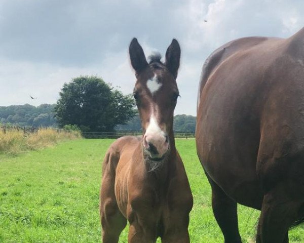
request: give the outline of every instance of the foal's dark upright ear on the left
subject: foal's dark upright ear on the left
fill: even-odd
[[[138,73],[148,65],[148,63],[136,38],[133,38],[130,43],[129,54],[131,65],[135,70],[135,75],[137,76]]]

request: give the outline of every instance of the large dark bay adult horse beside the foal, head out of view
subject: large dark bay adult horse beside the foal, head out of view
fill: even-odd
[[[304,29],[237,39],[211,54],[196,141],[225,243],[241,242],[237,203],[261,210],[256,242],[288,242],[304,216]]]

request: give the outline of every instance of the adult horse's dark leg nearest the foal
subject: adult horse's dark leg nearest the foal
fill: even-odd
[[[224,243],[242,243],[238,226],[237,203],[227,196],[208,175],[207,178],[212,189],[213,214],[224,235]]]

